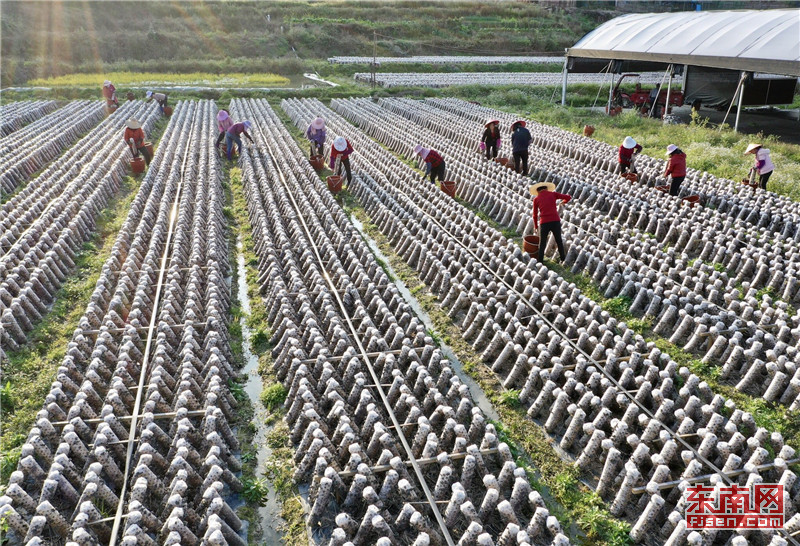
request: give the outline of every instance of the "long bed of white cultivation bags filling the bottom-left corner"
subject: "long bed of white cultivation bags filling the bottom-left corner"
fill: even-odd
[[[175,108],[0,497],[12,543],[246,544],[216,113]]]

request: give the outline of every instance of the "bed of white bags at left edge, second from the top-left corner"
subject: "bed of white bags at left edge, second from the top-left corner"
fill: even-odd
[[[75,101],[0,138],[0,194],[14,191],[104,115],[101,102]]]

